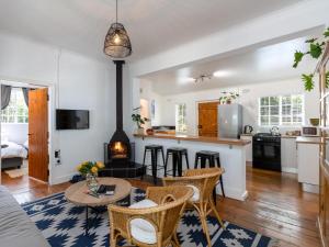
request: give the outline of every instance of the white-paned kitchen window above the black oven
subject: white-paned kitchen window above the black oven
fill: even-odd
[[[259,99],[259,124],[261,126],[296,126],[304,122],[304,97],[302,94],[263,97]]]

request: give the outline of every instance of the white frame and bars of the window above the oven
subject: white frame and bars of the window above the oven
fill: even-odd
[[[290,115],[285,115],[285,116],[290,116],[291,117],[291,120],[292,120],[291,123],[292,124],[282,124],[282,117],[283,117],[283,114],[282,114],[282,108],[283,108],[282,98],[283,97],[291,97],[291,98],[293,98],[293,97],[297,97],[297,96],[300,97],[300,99],[302,99],[302,114],[300,114],[302,122],[300,123],[294,123],[293,122],[294,114],[293,114],[293,102],[292,102],[291,103],[291,114]],[[261,115],[261,108],[262,108],[262,105],[261,105],[261,99],[269,98],[269,100],[270,100],[271,97],[277,97],[279,98],[279,125],[277,126],[281,126],[281,127],[300,127],[305,123],[305,97],[302,93],[292,93],[292,94],[260,97],[258,99],[258,125],[259,126],[261,126],[261,127],[271,127],[271,126],[274,126],[271,123],[271,121],[270,121],[270,117],[271,117],[270,112],[269,112],[269,125],[261,124],[261,117],[263,116],[263,115]],[[271,104],[269,102],[269,108],[270,106],[271,106]]]

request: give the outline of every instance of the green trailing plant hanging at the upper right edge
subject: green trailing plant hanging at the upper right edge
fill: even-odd
[[[327,27],[327,30],[324,32],[324,41],[319,41],[319,38],[310,38],[305,41],[305,43],[308,44],[308,50],[305,53],[300,50],[295,52],[293,67],[297,68],[305,56],[319,59],[324,53],[327,42],[329,42],[329,27]],[[306,91],[311,91],[314,89],[314,77],[315,72],[302,75],[302,81],[304,82],[304,88]],[[329,87],[329,71],[326,74],[326,87]]]

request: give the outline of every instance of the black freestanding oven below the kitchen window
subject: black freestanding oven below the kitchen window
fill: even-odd
[[[281,136],[259,133],[252,138],[252,167],[281,171]]]

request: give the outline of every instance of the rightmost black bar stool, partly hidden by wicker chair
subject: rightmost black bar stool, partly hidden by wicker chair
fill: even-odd
[[[220,159],[219,159],[219,153],[218,151],[209,151],[209,150],[197,151],[195,154],[194,169],[197,169],[198,160],[201,160],[201,168],[206,167],[206,160],[209,161],[209,167],[215,167],[215,161],[216,161],[217,167],[220,167]],[[222,176],[219,178],[219,182],[220,182],[223,197],[225,198]],[[213,197],[214,197],[214,200],[215,200],[216,199],[216,191],[213,192]],[[215,203],[216,203],[216,200],[215,200]]]

